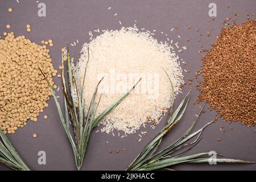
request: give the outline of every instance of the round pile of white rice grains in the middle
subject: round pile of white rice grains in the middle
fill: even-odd
[[[81,50],[78,68],[82,82],[89,48],[84,89],[86,110],[103,76],[97,96],[102,94],[98,114],[141,77],[135,90],[102,119],[101,131],[110,133],[116,129],[126,135],[135,133],[148,122],[158,123],[171,104],[171,84],[163,68],[171,77],[176,94],[184,83],[179,57],[170,45],[158,43],[148,32],[140,32],[136,27],[102,32]]]

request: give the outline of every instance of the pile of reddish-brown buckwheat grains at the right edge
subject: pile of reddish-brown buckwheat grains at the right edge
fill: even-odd
[[[206,101],[225,121],[256,124],[256,20],[224,27],[203,56]]]

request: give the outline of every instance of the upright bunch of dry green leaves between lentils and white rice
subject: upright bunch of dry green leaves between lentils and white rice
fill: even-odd
[[[68,67],[68,84],[65,82],[65,74],[64,74],[64,56],[67,56],[67,67]],[[88,61],[89,61],[89,48],[88,48]],[[49,84],[46,76],[46,79],[49,88],[51,89],[52,96],[55,100],[55,104],[57,106],[57,110],[60,116],[60,121],[64,127],[65,133],[71,143],[73,154],[75,156],[75,162],[77,169],[80,169],[84,160],[85,151],[89,142],[89,137],[92,129],[97,126],[98,122],[110,111],[112,111],[119,103],[121,103],[134,89],[134,87],[130,89],[127,93],[123,94],[117,101],[115,101],[112,105],[106,108],[97,118],[94,119],[96,115],[96,110],[98,105],[100,104],[100,100],[96,104],[96,93],[98,89],[98,85],[96,87],[96,91],[93,94],[92,100],[90,102],[90,106],[88,109],[88,113],[86,113],[85,108],[85,99],[84,99],[84,84],[85,84],[85,74],[84,73],[84,80],[81,84],[81,77],[79,74],[78,64],[79,60],[77,60],[76,69],[72,70],[71,66],[71,57],[69,55],[69,48],[67,52],[62,53],[62,86],[63,86],[63,94],[64,94],[64,115],[61,110],[60,104],[57,101],[57,97],[55,92],[52,89],[52,86]],[[86,68],[87,68],[86,63]],[[86,70],[85,68],[85,70]],[[73,72],[74,71],[74,72]],[[41,71],[42,72],[42,71]],[[43,72],[42,72],[43,73]],[[76,76],[73,77],[73,74],[76,73]],[[139,80],[140,81],[140,80]],[[100,84],[100,83],[99,83]],[[101,96],[100,96],[101,98]],[[77,106],[78,105],[78,106]],[[69,125],[72,125],[73,134],[71,133],[71,129]]]

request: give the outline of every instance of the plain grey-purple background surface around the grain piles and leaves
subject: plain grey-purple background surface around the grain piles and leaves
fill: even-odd
[[[214,42],[215,36],[220,32],[222,22],[227,16],[233,16],[240,13],[238,22],[246,19],[247,13],[256,13],[256,1],[40,1],[46,3],[47,16],[39,18],[37,15],[36,1],[19,0],[1,0],[0,1],[0,32],[6,31],[5,25],[11,24],[11,31],[15,35],[25,35],[33,42],[40,43],[41,40],[53,39],[54,47],[51,48],[51,56],[55,68],[60,65],[61,47],[67,43],[72,43],[79,39],[76,47],[71,47],[71,54],[76,57],[82,47],[82,43],[89,41],[88,31],[100,29],[120,28],[118,21],[121,20],[122,26],[133,26],[134,20],[137,20],[139,28],[146,30],[158,30],[155,38],[164,41],[165,36],[160,34],[166,32],[174,43],[179,41],[179,46],[184,45],[187,50],[180,54],[183,60],[187,61],[187,67],[191,70],[184,72],[185,81],[189,77],[194,78],[195,72],[200,68],[201,55],[197,53],[200,45],[209,48]],[[213,22],[207,22],[208,5],[210,2],[217,4],[217,17]],[[108,7],[112,6],[111,10]],[[230,9],[228,9],[230,6]],[[7,13],[9,7],[13,8],[13,13]],[[117,16],[114,14],[117,13]],[[31,24],[31,32],[26,32],[26,24]],[[192,30],[188,30],[192,26]],[[178,31],[170,32],[172,27],[179,27]],[[210,28],[214,28],[210,31]],[[196,32],[200,28],[204,33]],[[205,36],[210,31],[210,37]],[[181,39],[177,38],[181,36]],[[201,39],[201,43],[197,39]],[[187,39],[191,39],[187,43]],[[60,85],[60,78],[55,78],[56,84]],[[195,87],[196,81],[193,81]],[[183,88],[183,93],[187,93],[188,86]],[[59,95],[61,96],[60,92]],[[170,144],[177,137],[180,137],[191,125],[195,118],[195,111],[199,111],[199,105],[193,105],[198,92],[194,89],[191,93],[191,101],[182,121],[163,141],[163,146]],[[179,94],[176,103],[179,103],[184,94]],[[18,129],[14,135],[8,135],[13,142],[19,154],[23,157],[29,167],[34,170],[74,170],[75,162],[71,146],[64,133],[63,126],[59,121],[55,103],[52,98],[48,102],[49,107],[38,118],[38,122],[28,121],[28,125],[23,129]],[[200,104],[202,105],[202,104]],[[47,114],[49,118],[43,119]],[[200,121],[196,124],[196,129],[203,126],[214,117],[214,111],[204,113]],[[84,166],[82,170],[123,170],[142,150],[143,146],[162,129],[164,122],[160,123],[155,130],[147,129],[147,136],[141,142],[137,142],[137,135],[130,135],[126,138],[113,137],[108,134],[96,134],[94,130],[89,141],[88,151],[86,152]],[[220,131],[224,126],[226,133]],[[234,130],[229,128],[233,127]],[[255,153],[255,127],[248,128],[239,123],[226,123],[219,119],[217,123],[209,126],[203,133],[203,140],[188,154],[196,152],[205,152],[215,150],[229,158],[246,159],[256,161]],[[37,133],[36,139],[32,134]],[[117,134],[116,134],[117,135]],[[221,138],[221,142],[218,142]],[[109,141],[109,143],[106,143]],[[126,148],[126,151],[122,151]],[[39,166],[38,151],[46,151],[47,165]],[[109,154],[110,150],[119,150],[119,154]],[[218,164],[210,166],[209,164],[181,164],[175,169],[180,170],[224,170],[224,169],[256,169],[255,164]],[[9,170],[9,168],[0,164],[0,170]]]

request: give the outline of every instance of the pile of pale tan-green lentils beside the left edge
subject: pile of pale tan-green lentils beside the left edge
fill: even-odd
[[[40,69],[51,85],[52,73],[57,73],[48,53],[46,45],[15,38],[13,32],[0,39],[0,129],[5,134],[14,134],[28,119],[36,122],[48,107],[51,91]]]

